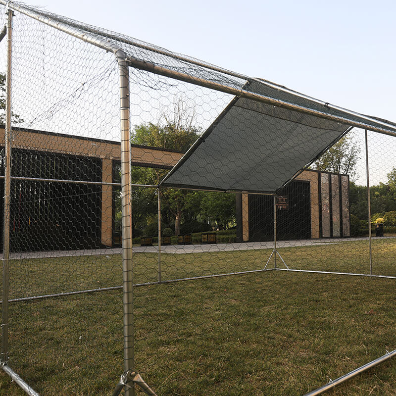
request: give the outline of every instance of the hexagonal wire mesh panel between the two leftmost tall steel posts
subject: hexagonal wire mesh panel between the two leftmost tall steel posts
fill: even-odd
[[[2,17],[5,11],[1,6]],[[17,11],[12,56],[9,299],[22,301],[9,310],[7,363],[43,395],[98,392],[94,380],[70,380],[79,370],[91,379],[105,370],[103,351],[93,345],[95,334],[106,333],[113,351],[119,343],[108,379],[116,383],[122,330],[112,322],[122,328],[121,295],[41,297],[122,285],[113,244],[118,65],[112,54]],[[2,158],[4,144],[3,132]],[[4,166],[1,177],[3,189]],[[3,223],[3,211],[0,217]],[[112,298],[113,317],[103,311]]]

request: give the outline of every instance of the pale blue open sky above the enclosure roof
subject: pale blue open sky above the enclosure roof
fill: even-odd
[[[396,1],[46,0],[35,5],[396,121]]]

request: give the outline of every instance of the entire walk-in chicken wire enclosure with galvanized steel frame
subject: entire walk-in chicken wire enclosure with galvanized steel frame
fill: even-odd
[[[386,278],[355,284],[367,312],[359,288],[394,287],[395,124],[0,4],[1,365],[25,392],[316,395],[394,349],[385,308],[340,341],[331,281],[304,287]]]

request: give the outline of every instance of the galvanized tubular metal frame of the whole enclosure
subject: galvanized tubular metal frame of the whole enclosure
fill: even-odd
[[[370,277],[378,277],[378,278],[388,278],[388,279],[396,279],[396,276],[385,276],[385,275],[373,275],[372,273],[372,251],[371,251],[371,225],[370,225],[370,187],[369,187],[369,169],[368,169],[368,148],[367,148],[367,129],[383,133],[390,136],[396,136],[396,125],[390,122],[386,122],[384,120],[375,119],[373,117],[365,116],[359,113],[352,112],[350,110],[333,106],[329,103],[322,102],[317,99],[310,98],[308,96],[299,94],[295,91],[289,90],[287,88],[281,87],[279,85],[270,83],[264,80],[264,83],[272,88],[280,90],[285,93],[289,93],[295,95],[302,99],[309,99],[316,104],[320,104],[323,106],[323,111],[315,110],[312,108],[304,107],[302,105],[298,105],[296,103],[287,102],[284,100],[274,99],[271,97],[267,97],[265,95],[254,94],[245,89],[238,89],[232,86],[228,86],[226,84],[215,83],[213,81],[205,80],[202,78],[196,78],[191,75],[177,72],[171,69],[168,69],[164,66],[157,66],[155,64],[142,61],[140,59],[133,58],[131,56],[126,56],[126,54],[119,48],[117,45],[105,40],[100,39],[95,34],[95,29],[90,28],[92,33],[86,32],[84,29],[86,28],[84,25],[79,25],[78,23],[67,24],[62,20],[55,20],[55,18],[50,18],[43,13],[32,10],[29,7],[23,6],[21,4],[16,4],[11,1],[0,0],[0,4],[5,5],[8,10],[7,16],[7,27],[0,32],[0,40],[4,37],[5,33],[7,34],[7,79],[6,79],[6,125],[5,125],[5,174],[1,176],[4,178],[4,232],[3,232],[3,292],[2,292],[2,324],[1,324],[1,360],[0,366],[1,369],[7,373],[13,380],[16,382],[27,394],[32,396],[38,396],[38,394],[29,387],[12,369],[7,365],[8,361],[8,303],[12,301],[23,301],[23,300],[32,300],[38,298],[45,297],[58,297],[58,296],[66,296],[73,294],[81,294],[81,293],[91,293],[91,292],[99,292],[99,291],[108,291],[121,289],[121,287],[112,287],[112,288],[104,288],[104,289],[93,289],[79,292],[70,292],[70,293],[61,293],[55,295],[47,295],[47,296],[37,296],[37,297],[27,297],[27,298],[16,298],[9,299],[9,225],[10,225],[10,183],[11,180],[32,180],[32,181],[44,181],[44,182],[59,182],[59,183],[74,183],[74,184],[97,184],[97,185],[110,185],[110,186],[120,186],[122,187],[122,268],[123,268],[123,328],[124,328],[124,374],[121,377],[121,381],[117,385],[114,395],[118,394],[123,388],[125,389],[126,396],[134,396],[134,385],[137,384],[140,386],[146,393],[149,395],[155,395],[155,393],[148,387],[148,385],[143,381],[140,375],[134,371],[134,323],[133,323],[133,288],[137,286],[147,286],[147,285],[156,285],[163,283],[172,283],[172,282],[180,282],[180,281],[188,281],[195,279],[205,279],[205,278],[214,278],[221,276],[229,276],[229,275],[237,275],[237,274],[248,274],[255,272],[264,272],[271,271],[273,269],[280,271],[290,271],[290,272],[307,272],[307,273],[318,273],[318,274],[336,274],[336,275],[351,275],[351,276],[370,276]],[[39,179],[39,178],[23,178],[23,177],[12,177],[11,176],[11,60],[12,60],[12,10],[17,10],[23,14],[30,16],[42,23],[45,23],[49,26],[54,27],[55,29],[65,32],[73,37],[84,40],[87,43],[95,45],[101,49],[105,49],[106,51],[111,51],[117,60],[118,63],[118,71],[119,71],[119,88],[120,88],[120,119],[121,119],[121,184],[119,183],[103,183],[103,182],[87,182],[87,181],[71,181],[71,180],[58,180],[58,179]],[[74,25],[74,26],[73,26]],[[101,32],[102,36],[106,36]],[[107,37],[111,35],[107,34]],[[122,40],[120,40],[122,41]],[[124,40],[128,41],[128,40]],[[216,66],[212,66],[206,64],[204,62],[194,60],[188,57],[184,57],[182,55],[177,55],[166,51],[164,49],[158,49],[154,47],[150,47],[149,45],[144,45],[137,42],[128,41],[129,44],[135,45],[136,47],[146,48],[158,53],[162,53],[168,56],[172,56],[179,60],[186,61],[190,64],[196,64],[198,66],[205,67],[210,70],[218,71],[224,73],[226,75],[230,75],[236,78],[240,78],[243,80],[249,79],[248,77],[230,72],[228,70],[218,68]],[[183,278],[183,279],[173,279],[173,280],[162,280],[161,276],[161,196],[159,186],[145,186],[145,185],[132,185],[131,183],[131,144],[130,144],[130,101],[129,101],[129,67],[136,67],[141,70],[146,70],[149,72],[153,72],[158,75],[171,77],[180,81],[185,81],[189,83],[193,83],[198,86],[203,86],[206,88],[215,89],[220,92],[236,95],[237,98],[243,97],[247,99],[257,100],[265,103],[271,103],[274,105],[280,105],[287,107],[292,110],[296,110],[299,112],[304,112],[307,114],[313,114],[319,117],[323,117],[326,119],[335,120],[338,122],[342,122],[348,124],[350,126],[356,126],[359,128],[366,128],[365,130],[365,143],[366,143],[366,167],[367,167],[367,194],[368,194],[368,221],[369,221],[369,254],[370,254],[370,274],[353,274],[353,273],[343,273],[343,272],[328,272],[328,271],[309,271],[309,270],[294,270],[289,269],[283,260],[282,256],[279,254],[277,250],[277,207],[276,207],[276,194],[274,193],[260,193],[257,194],[265,194],[265,195],[273,195],[274,197],[274,249],[270,255],[274,255],[274,268],[267,269],[268,262],[263,269],[252,270],[252,271],[240,271],[240,272],[231,272],[225,274],[214,274],[214,275],[206,275],[206,276],[198,276],[191,278]],[[251,81],[263,81],[261,79],[250,79]],[[336,116],[329,114],[326,112],[326,108],[334,109],[339,111],[342,115]],[[351,120],[348,116],[357,117],[359,121]],[[368,122],[368,124],[366,123]],[[371,125],[370,125],[371,123]],[[183,157],[185,158],[185,157]],[[180,164],[179,164],[180,165]],[[173,168],[175,169],[175,168]],[[171,174],[172,172],[170,172]],[[164,179],[165,180],[165,179]],[[164,181],[163,180],[163,181]],[[162,182],[161,181],[161,184]],[[156,187],[158,188],[158,282],[149,282],[144,284],[133,284],[133,273],[132,273],[132,200],[131,200],[131,187]],[[165,186],[163,186],[165,187]],[[196,190],[194,188],[185,188],[187,190]],[[216,191],[216,190],[208,190],[208,191]],[[285,264],[286,269],[278,268],[277,266],[277,256],[279,256],[282,262]],[[306,396],[314,396],[319,395],[329,389],[332,389],[335,385],[339,383],[343,383],[347,381],[349,378],[385,361],[394,357],[396,355],[396,350],[386,355],[367,363],[364,366],[348,373],[347,375],[340,377],[336,381],[328,384],[322,388],[319,388],[316,391],[313,391]],[[117,393],[116,393],[117,391]]]

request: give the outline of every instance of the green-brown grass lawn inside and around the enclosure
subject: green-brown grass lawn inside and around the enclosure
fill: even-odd
[[[366,241],[279,249],[290,268],[365,272]],[[260,269],[270,250],[163,254],[163,279]],[[396,239],[373,241],[396,275]],[[134,255],[135,283],[157,256]],[[11,298],[121,284],[114,256],[13,260]],[[136,366],[159,395],[303,395],[396,348],[396,281],[270,271],[135,288]],[[10,362],[41,395],[111,395],[122,293],[10,304]],[[390,360],[330,395],[396,395]],[[23,395],[0,375],[0,395]]]

